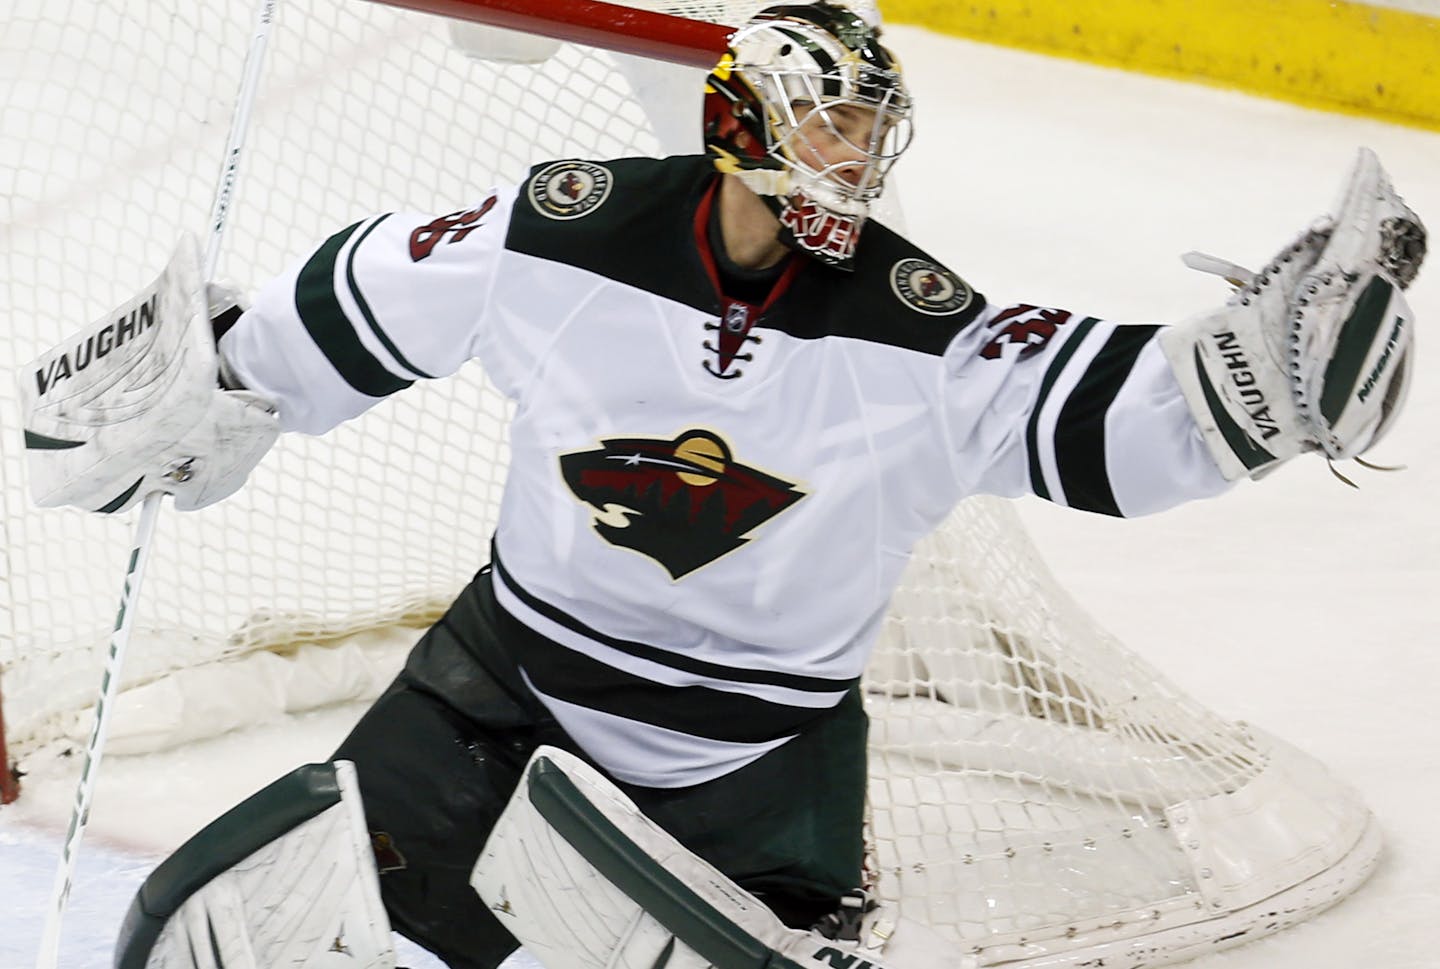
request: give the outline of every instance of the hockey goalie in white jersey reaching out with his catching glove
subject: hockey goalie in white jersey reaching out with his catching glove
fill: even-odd
[[[968,495],[1133,517],[1365,454],[1426,235],[1362,150],[1259,272],[1195,258],[1234,292],[1187,321],[999,302],[868,217],[912,115],[874,26],[770,7],[704,154],[366,217],[249,307],[183,255],[144,328],[26,370],[36,500],[102,513],[472,359],[516,405],[471,585],[331,763],[151,875],[120,966],[392,966],[392,930],[454,969],[962,965],[865,891],[860,677],[912,547]]]

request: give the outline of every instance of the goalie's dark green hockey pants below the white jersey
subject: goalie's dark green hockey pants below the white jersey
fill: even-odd
[[[452,969],[492,969],[514,937],[469,874],[531,752],[585,757],[520,675],[528,629],[475,576],[416,644],[336,759],[353,760],[392,926]],[[809,927],[860,887],[865,714],[858,688],[801,736],[693,788],[619,788],[681,844]]]

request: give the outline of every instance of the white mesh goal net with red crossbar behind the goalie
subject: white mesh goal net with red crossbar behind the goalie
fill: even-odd
[[[0,14],[0,361],[125,301],[181,232],[204,236],[230,177],[245,6],[12,0]],[[219,276],[252,287],[369,212],[462,207],[540,160],[698,150],[700,75],[645,55],[713,60],[724,32],[706,24],[759,4],[647,3],[701,24],[642,24],[660,40],[634,19],[577,26],[606,4],[498,6],[511,26],[543,12],[559,26],[533,29],[632,53],[366,0],[265,4]],[[325,438],[287,436],[236,497],[161,515],[125,675],[147,701],[118,708],[117,750],[373,695],[403,631],[487,557],[507,416],[469,367]],[[132,520],[35,510],[13,380],[0,419],[0,747],[24,759],[85,736]],[[1378,852],[1348,788],[1097,628],[999,501],[962,504],[919,549],[867,703],[873,887],[959,966],[1200,955],[1344,897]]]

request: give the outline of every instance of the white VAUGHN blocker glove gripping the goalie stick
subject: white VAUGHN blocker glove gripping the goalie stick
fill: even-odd
[[[163,491],[187,511],[245,484],[279,420],[220,386],[210,317],[228,308],[186,236],[140,295],[20,370],[36,504],[114,513]]]

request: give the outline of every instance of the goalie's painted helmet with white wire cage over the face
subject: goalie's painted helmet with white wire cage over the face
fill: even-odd
[[[910,132],[899,60],[834,3],[762,10],[706,78],[716,168],[773,200],[786,245],[841,268]]]

